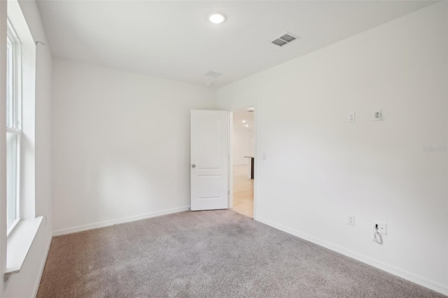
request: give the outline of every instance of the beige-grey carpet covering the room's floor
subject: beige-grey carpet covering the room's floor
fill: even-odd
[[[52,240],[37,297],[444,297],[235,211]]]

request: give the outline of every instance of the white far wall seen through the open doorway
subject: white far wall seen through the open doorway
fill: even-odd
[[[245,156],[253,156],[253,129],[234,127],[232,138],[233,164],[250,164]]]

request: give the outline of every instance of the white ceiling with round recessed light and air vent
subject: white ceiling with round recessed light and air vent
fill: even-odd
[[[38,0],[38,8],[56,57],[219,87],[431,3]],[[213,12],[227,20],[211,24]],[[300,40],[270,43],[286,31]]]

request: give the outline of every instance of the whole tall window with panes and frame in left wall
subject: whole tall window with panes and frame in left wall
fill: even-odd
[[[6,196],[8,235],[20,221],[20,139],[22,136],[22,64],[20,40],[8,21],[6,52]]]

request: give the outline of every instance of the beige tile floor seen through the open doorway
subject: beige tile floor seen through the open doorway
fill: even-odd
[[[249,178],[250,165],[233,166],[233,210],[253,218],[253,179]]]

